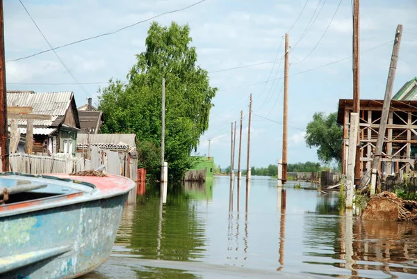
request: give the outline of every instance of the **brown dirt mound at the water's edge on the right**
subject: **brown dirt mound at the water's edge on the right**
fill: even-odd
[[[402,200],[395,193],[384,191],[370,198],[361,218],[377,221],[417,221],[417,202]]]

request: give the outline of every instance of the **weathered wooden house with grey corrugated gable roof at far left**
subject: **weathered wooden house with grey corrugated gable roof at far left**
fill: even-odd
[[[33,153],[76,154],[79,115],[74,93],[35,93],[33,91],[7,91],[8,106],[31,106],[34,114],[51,115],[51,120],[33,120]],[[10,120],[9,120],[10,125]],[[21,138],[26,135],[26,120],[18,120]]]

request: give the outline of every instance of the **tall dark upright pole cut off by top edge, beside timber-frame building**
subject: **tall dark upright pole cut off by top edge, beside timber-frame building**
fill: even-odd
[[[359,69],[359,0],[353,1],[353,112],[360,113],[360,69]],[[360,121],[358,122],[359,125]],[[360,133],[361,129],[357,129]],[[357,137],[356,161],[354,164],[354,184],[359,185],[361,180],[361,147],[360,135]]]

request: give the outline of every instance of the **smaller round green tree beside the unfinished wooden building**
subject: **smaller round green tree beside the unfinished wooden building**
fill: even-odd
[[[309,148],[318,148],[318,159],[322,162],[329,164],[334,159],[340,164],[343,127],[337,125],[337,113],[314,113],[313,121],[306,127],[305,140]]]

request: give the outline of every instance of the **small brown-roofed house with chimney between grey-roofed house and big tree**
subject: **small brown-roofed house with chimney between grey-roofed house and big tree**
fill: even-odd
[[[78,108],[81,134],[99,134],[104,118],[103,113],[92,106],[91,98],[88,98],[88,103]]]

